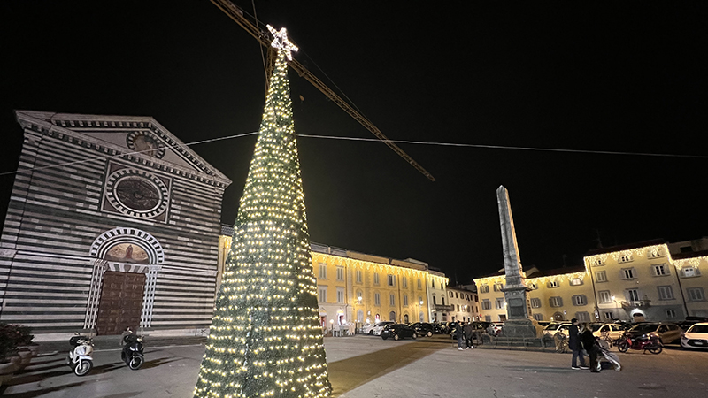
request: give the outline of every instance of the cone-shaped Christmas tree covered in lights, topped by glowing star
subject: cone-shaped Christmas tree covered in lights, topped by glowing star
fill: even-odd
[[[270,28],[270,27],[269,27]],[[319,325],[283,28],[195,397],[322,397]]]

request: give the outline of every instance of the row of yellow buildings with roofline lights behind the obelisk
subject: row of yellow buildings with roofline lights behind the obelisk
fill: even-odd
[[[708,317],[708,251],[670,253],[662,240],[595,249],[581,267],[540,272],[526,284],[537,320],[679,322]],[[483,320],[504,321],[504,275],[474,279]]]

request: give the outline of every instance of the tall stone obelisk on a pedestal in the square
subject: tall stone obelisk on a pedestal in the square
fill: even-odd
[[[516,231],[512,208],[509,205],[509,192],[504,186],[496,189],[496,203],[499,207],[499,223],[502,227],[502,246],[504,247],[504,274],[506,284],[502,288],[506,301],[506,322],[504,337],[539,337],[542,327],[531,318],[531,304],[528,300],[530,290],[524,283],[524,271],[519,260],[519,246],[516,243]]]

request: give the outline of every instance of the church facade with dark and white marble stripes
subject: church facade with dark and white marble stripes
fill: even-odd
[[[0,238],[0,322],[47,338],[206,333],[231,181],[149,117],[16,119],[24,144]]]

